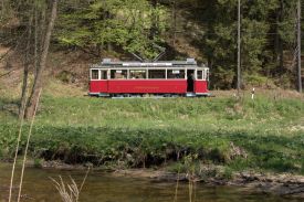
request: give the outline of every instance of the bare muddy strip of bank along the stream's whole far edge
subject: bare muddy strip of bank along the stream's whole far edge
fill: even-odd
[[[2,164],[9,164],[8,162]],[[27,170],[36,168],[33,160],[28,161]],[[221,176],[205,177],[189,176],[189,173],[170,172],[166,168],[158,169],[120,169],[112,170],[104,167],[92,167],[92,164],[66,164],[62,161],[43,161],[40,164],[41,170],[56,170],[64,172],[75,172],[85,174],[87,168],[91,167],[90,174],[106,174],[109,178],[123,179],[138,179],[148,180],[154,183],[179,183],[187,184],[189,180],[197,185],[208,187],[226,187],[231,189],[242,189],[243,191],[254,192],[256,194],[271,194],[282,196],[285,199],[304,199],[304,176],[296,176],[291,173],[254,173],[252,172],[238,172],[233,173],[231,178],[227,179]],[[211,172],[212,168],[206,172]],[[4,189],[6,187],[2,187]],[[1,190],[1,187],[0,187]]]

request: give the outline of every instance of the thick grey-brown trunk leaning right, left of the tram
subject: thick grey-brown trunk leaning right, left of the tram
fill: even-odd
[[[44,72],[45,66],[46,66],[46,57],[48,57],[48,53],[49,53],[51,34],[52,34],[52,30],[54,28],[56,13],[57,13],[57,0],[53,0],[51,19],[50,19],[50,22],[49,22],[49,25],[48,25],[48,29],[46,29],[46,32],[45,32],[45,38],[44,38],[44,41],[43,41],[43,49],[42,49],[42,53],[41,53],[41,60],[40,60],[39,68],[36,71],[36,76],[34,78],[34,84],[33,84],[33,88],[32,88],[32,92],[31,92],[31,96],[30,96],[30,99],[29,99],[29,103],[28,103],[25,118],[32,118],[33,117],[34,108],[35,108],[36,103],[39,100],[39,92],[42,88],[43,72]]]

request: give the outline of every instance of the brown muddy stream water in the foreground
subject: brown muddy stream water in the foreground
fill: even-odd
[[[0,163],[0,201],[8,198],[11,166]],[[71,176],[81,183],[85,171],[62,171],[27,168],[22,201],[61,201],[51,178],[62,176],[69,181]],[[18,178],[18,176],[17,176]],[[114,177],[109,173],[91,172],[82,190],[80,201],[85,202],[174,202],[175,183],[154,182],[148,179]],[[177,201],[188,202],[188,184],[180,183]],[[17,189],[14,190],[14,194]],[[297,202],[301,200],[265,195],[252,190],[229,187],[206,187],[197,184],[192,201],[196,202]]]

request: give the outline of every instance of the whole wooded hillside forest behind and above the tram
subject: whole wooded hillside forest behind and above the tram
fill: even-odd
[[[53,2],[1,1],[1,45],[10,47],[33,73],[43,52]],[[237,0],[56,3],[51,52],[81,52],[94,63],[103,57],[137,60],[132,53],[153,60],[166,50],[161,60],[195,57],[209,66],[211,88],[230,89],[237,85]],[[243,87],[297,88],[296,3],[296,0],[241,1]],[[6,56],[4,53],[1,60]],[[49,61],[55,63],[52,57]],[[87,66],[83,68],[87,71]],[[73,74],[73,66],[70,72]]]

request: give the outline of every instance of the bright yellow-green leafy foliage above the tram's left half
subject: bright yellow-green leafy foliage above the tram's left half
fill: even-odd
[[[65,3],[64,9],[71,4]],[[166,22],[166,8],[146,0],[98,0],[62,13],[57,40],[63,45],[95,46],[99,52],[105,45],[117,45],[151,60],[159,52],[155,44],[164,43]],[[151,35],[153,29],[156,34]]]

